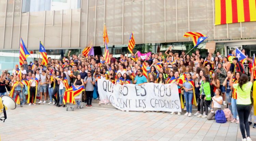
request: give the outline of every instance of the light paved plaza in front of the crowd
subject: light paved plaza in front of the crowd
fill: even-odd
[[[96,103],[94,103],[96,106]],[[2,141],[240,141],[239,124],[170,115],[87,107],[66,111],[52,105],[7,110]],[[3,116],[3,115],[1,115]],[[251,129],[256,140],[256,129]]]

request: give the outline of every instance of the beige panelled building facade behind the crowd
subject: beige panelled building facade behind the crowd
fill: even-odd
[[[109,36],[110,52],[121,53],[131,32],[136,44],[157,46],[172,44],[183,49],[185,32],[205,34],[215,41],[223,55],[234,47],[256,53],[256,22],[214,25],[214,0],[1,0],[1,63],[14,53],[18,62],[19,39],[37,58],[39,41],[49,55],[67,53],[68,49],[103,46],[103,25]],[[58,51],[57,51],[58,50]],[[102,49],[103,50],[103,49]],[[255,51],[254,51],[255,50]],[[155,49],[153,48],[153,52]],[[12,64],[14,65],[14,64]],[[2,67],[3,68],[3,67]],[[0,66],[1,69],[1,66]]]

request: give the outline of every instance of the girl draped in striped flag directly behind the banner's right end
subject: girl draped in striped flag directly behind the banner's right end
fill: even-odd
[[[179,97],[181,98],[181,108],[184,108],[183,98],[181,96],[181,87],[183,86],[182,79],[179,78],[179,72],[175,72],[174,76],[170,79],[169,83],[176,83],[179,90]],[[170,115],[175,114],[175,112],[172,112]],[[181,112],[178,112],[178,115],[181,115]]]

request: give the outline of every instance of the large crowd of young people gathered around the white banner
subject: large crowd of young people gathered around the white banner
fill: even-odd
[[[242,52],[245,54],[244,49]],[[48,104],[65,107],[62,99],[67,86],[85,85],[83,99],[86,99],[86,107],[92,107],[94,88],[97,99],[100,99],[97,79],[107,79],[113,84],[121,85],[176,83],[181,107],[186,111],[184,116],[192,116],[194,104],[198,105],[194,116],[211,120],[217,109],[227,106],[233,115],[231,122],[240,124],[243,139],[246,138],[246,130],[247,140],[250,140],[249,126],[253,124],[251,119],[254,115],[251,110],[251,88],[255,76],[252,72],[256,70],[252,66],[252,60],[252,57],[247,57],[244,63],[240,62],[233,50],[227,57],[220,52],[214,55],[207,53],[203,57],[199,49],[188,55],[185,51],[181,54],[174,52],[169,47],[165,55],[162,52],[152,53],[146,60],[138,57],[137,53],[121,54],[118,58],[110,53],[110,63],[105,63],[102,55],[84,57],[70,55],[69,51],[68,56],[61,60],[48,57],[47,66],[41,65],[40,59],[29,64],[25,60],[20,69],[16,65],[11,73],[3,71],[0,96],[6,95],[7,91],[13,94],[13,98],[19,95],[21,107],[26,103],[35,105],[37,99],[38,103],[46,103],[49,99]],[[147,78],[142,71],[144,61]],[[21,79],[18,77],[19,73],[22,73]],[[250,81],[247,74],[251,77]],[[174,115],[175,112],[170,114]],[[181,115],[180,112],[177,114]],[[256,128],[255,116],[253,128]]]

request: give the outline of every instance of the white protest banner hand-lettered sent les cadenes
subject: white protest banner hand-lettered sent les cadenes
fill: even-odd
[[[101,103],[111,102],[120,110],[181,112],[175,83],[114,85],[109,80],[98,79],[98,92]]]

